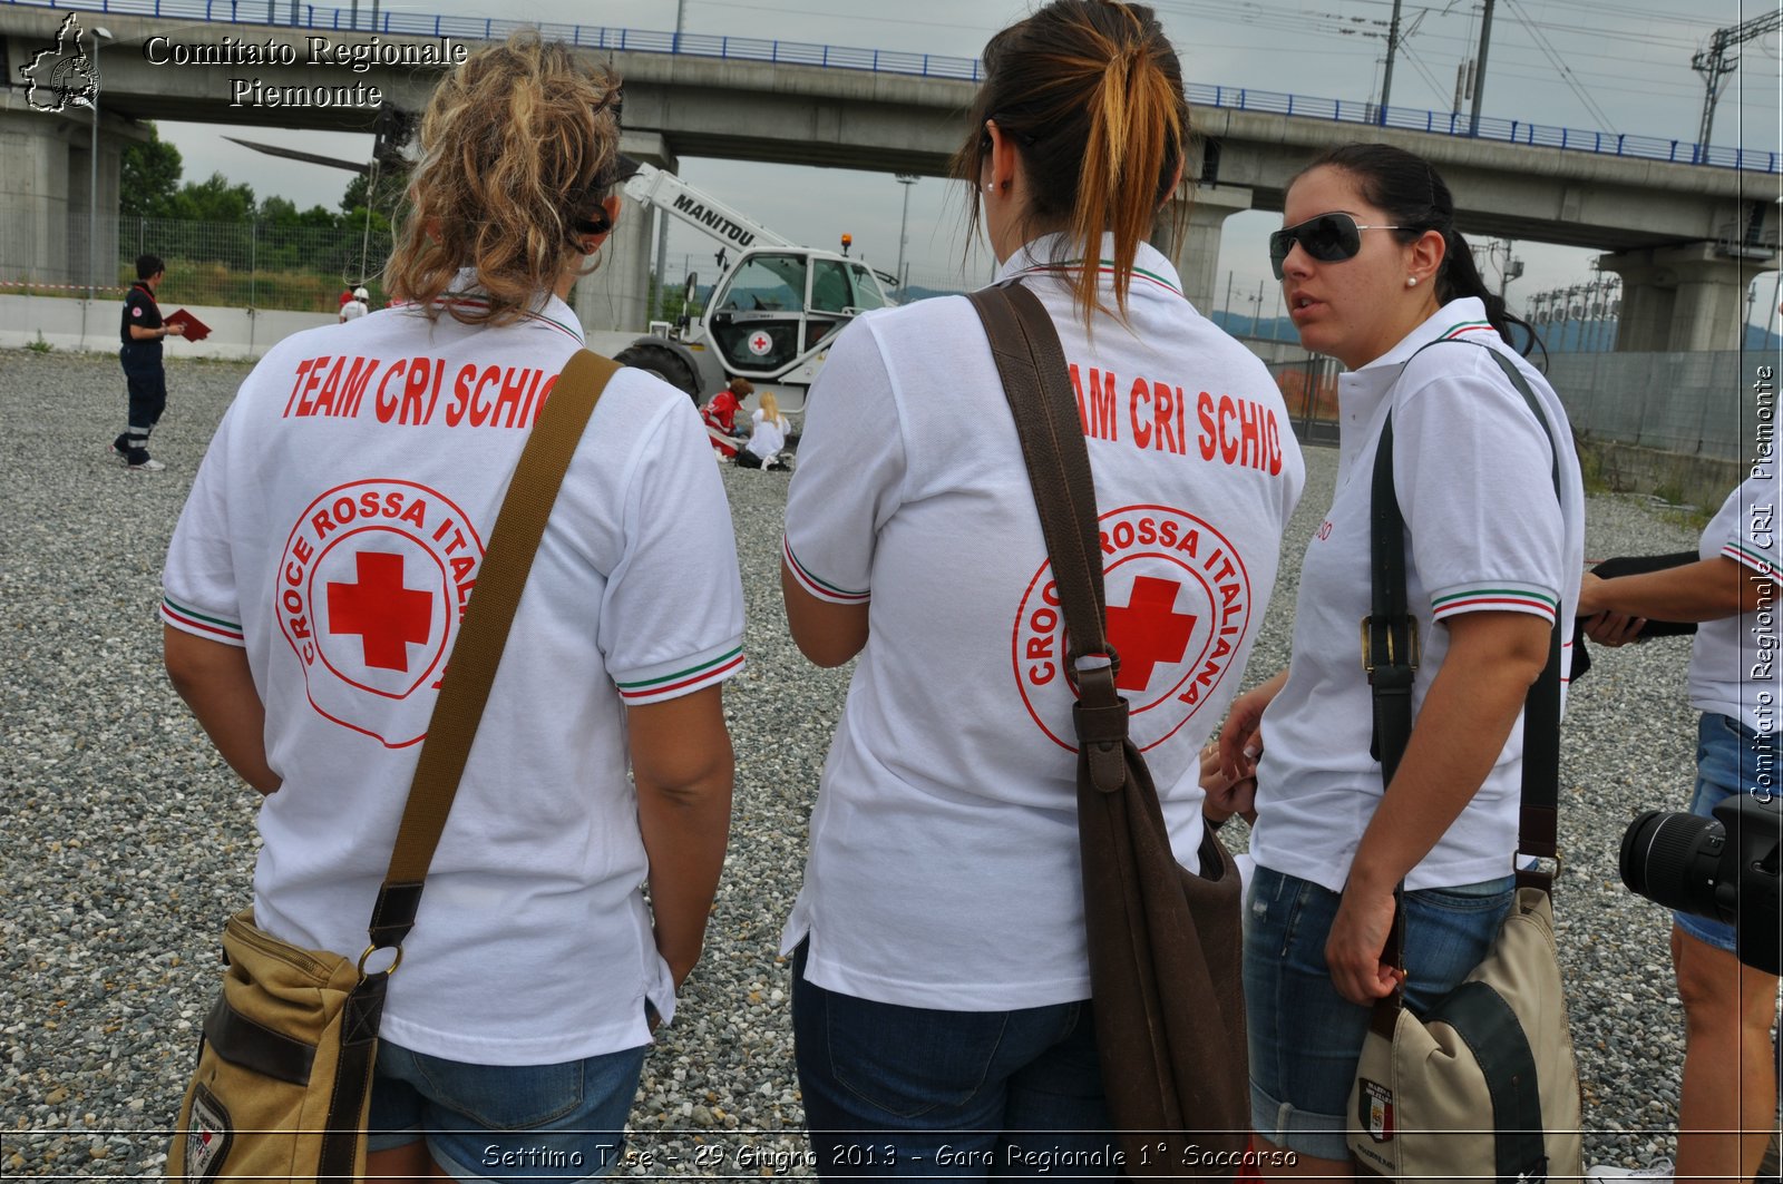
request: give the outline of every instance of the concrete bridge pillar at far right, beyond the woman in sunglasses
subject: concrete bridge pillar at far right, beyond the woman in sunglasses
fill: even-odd
[[[1713,243],[1599,255],[1623,276],[1621,351],[1738,349],[1746,285],[1762,267],[1730,259]]]

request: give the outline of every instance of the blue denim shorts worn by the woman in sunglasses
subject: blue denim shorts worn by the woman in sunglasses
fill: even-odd
[[[1405,893],[1405,1000],[1425,1011],[1480,965],[1510,911],[1514,877]],[[1332,986],[1325,965],[1341,897],[1259,867],[1245,917],[1250,1120],[1302,1155],[1350,1157],[1350,1084],[1369,1007]]]

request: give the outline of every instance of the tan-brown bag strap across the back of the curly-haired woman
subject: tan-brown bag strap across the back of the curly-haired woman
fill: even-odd
[[[521,604],[526,576],[533,569],[538,540],[556,503],[558,487],[569,471],[569,460],[581,442],[594,405],[601,399],[608,380],[619,373],[619,364],[587,349],[578,351],[558,374],[551,398],[546,401],[521,462],[514,469],[508,494],[496,515],[489,551],[476,572],[476,592],[471,596],[464,628],[453,645],[451,662],[428,738],[421,745],[421,761],[408,788],[408,806],[396,833],[390,868],[385,872],[378,904],[371,915],[371,943],[374,947],[401,945],[415,922],[421,904],[421,886],[446,829],[446,815],[458,777],[464,776],[471,744],[476,740],[489,688],[501,665],[501,651],[508,644],[508,626]]]

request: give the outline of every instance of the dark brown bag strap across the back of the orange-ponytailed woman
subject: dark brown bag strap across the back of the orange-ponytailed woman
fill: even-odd
[[[1034,506],[1052,558],[1068,640],[1068,672],[1077,681],[1077,738],[1104,793],[1127,777],[1127,703],[1114,690],[1120,654],[1107,640],[1097,490],[1082,417],[1072,392],[1064,348],[1052,317],[1020,284],[968,292],[984,321],[991,357],[1015,414]],[[1038,492],[1047,490],[1045,497]]]

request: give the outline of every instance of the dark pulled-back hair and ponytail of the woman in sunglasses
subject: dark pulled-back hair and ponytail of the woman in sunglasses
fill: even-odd
[[[1439,301],[1448,303],[1473,296],[1485,305],[1487,323],[1498,330],[1505,342],[1517,344],[1510,333],[1510,326],[1516,325],[1526,337],[1524,355],[1535,346],[1541,346],[1542,357],[1548,355],[1535,326],[1512,316],[1503,298],[1485,285],[1473,259],[1473,248],[1455,228],[1455,196],[1428,160],[1393,144],[1343,144],[1300,169],[1294,180],[1318,168],[1335,168],[1353,177],[1362,200],[1398,223],[1394,237],[1400,243],[1416,243],[1428,230],[1442,235],[1446,250],[1442,266],[1437,269]],[[1294,180],[1287,184],[1293,185]]]

